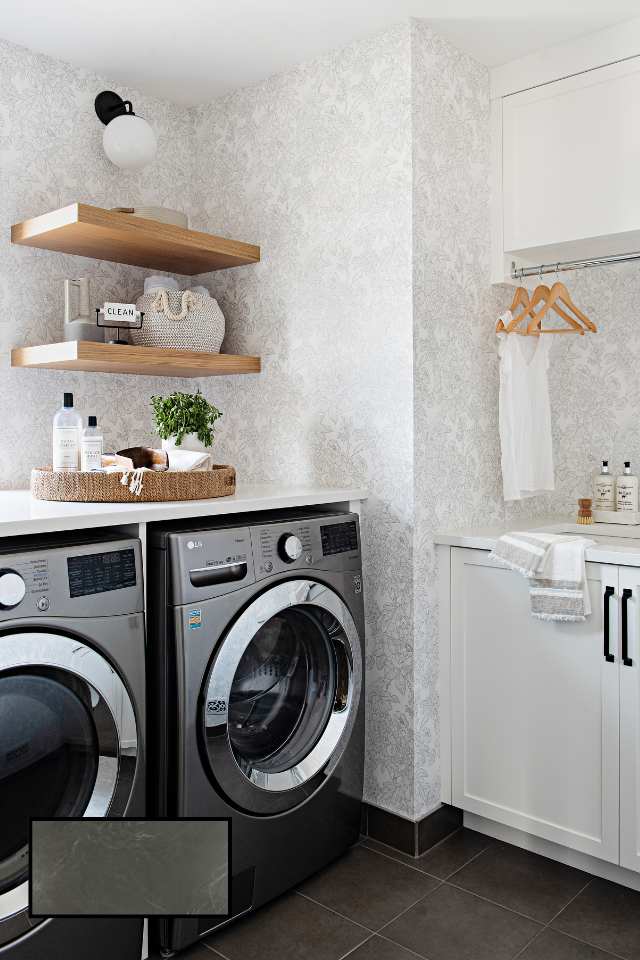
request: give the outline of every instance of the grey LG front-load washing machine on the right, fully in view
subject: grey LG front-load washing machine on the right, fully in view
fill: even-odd
[[[231,817],[233,919],[359,836],[358,517],[201,519],[149,536],[156,812]],[[171,954],[228,922],[176,918],[155,935]]]

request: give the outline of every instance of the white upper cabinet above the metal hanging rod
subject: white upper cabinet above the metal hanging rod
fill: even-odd
[[[640,56],[493,102],[493,277],[640,249]]]

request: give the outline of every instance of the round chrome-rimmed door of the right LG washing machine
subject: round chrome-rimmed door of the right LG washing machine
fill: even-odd
[[[271,587],[233,624],[205,681],[212,778],[252,813],[303,802],[348,741],[361,684],[360,641],[338,594],[313,580]]]

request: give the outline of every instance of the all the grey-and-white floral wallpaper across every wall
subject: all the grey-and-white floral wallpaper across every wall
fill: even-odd
[[[488,282],[487,71],[412,21],[193,110],[116,84],[159,135],[140,174],[102,152],[93,98],[110,86],[0,41],[5,237],[85,200],[165,204],[261,244],[260,264],[202,278],[227,318],[223,349],[263,358],[259,376],[199,382],[224,411],[217,458],[247,482],[370,490],[366,799],[417,819],[439,800],[433,533],[505,516],[487,330],[507,294]],[[98,415],[109,447],[153,440],[148,398],[167,381],[9,367],[11,346],[60,336],[64,277],[90,276],[96,304],[135,297],[146,273],[0,244],[0,489],[26,486],[48,460],[63,390]],[[627,413],[637,287],[628,268],[572,282],[610,337],[558,338],[559,493],[541,512],[568,507],[602,456],[640,468]]]

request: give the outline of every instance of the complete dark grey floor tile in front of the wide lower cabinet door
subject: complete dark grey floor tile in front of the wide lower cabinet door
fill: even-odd
[[[590,877],[506,843],[494,843],[450,877],[450,883],[549,923],[587,884]]]

